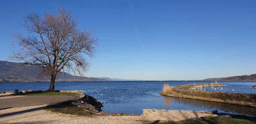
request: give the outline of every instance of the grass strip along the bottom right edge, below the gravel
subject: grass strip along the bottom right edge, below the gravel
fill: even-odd
[[[157,124],[158,122],[156,122]],[[204,117],[199,120],[182,120],[177,122],[159,122],[158,124],[256,124],[255,117]]]

